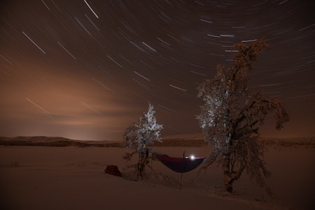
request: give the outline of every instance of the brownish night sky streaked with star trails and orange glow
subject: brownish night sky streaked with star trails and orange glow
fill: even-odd
[[[262,137],[315,136],[314,1],[1,2],[0,136],[123,140],[148,102],[162,137],[202,132],[197,86],[262,37],[251,90],[290,113]]]

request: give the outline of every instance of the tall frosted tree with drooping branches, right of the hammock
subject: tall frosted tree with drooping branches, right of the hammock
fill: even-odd
[[[232,68],[218,65],[216,76],[197,88],[197,96],[204,101],[197,120],[204,141],[214,148],[202,169],[218,162],[223,168],[225,190],[230,193],[232,184],[245,170],[251,180],[271,195],[264,181],[264,176],[267,178],[271,173],[265,167],[263,148],[257,141],[259,128],[270,112],[274,112],[277,130],[289,117],[278,99],[267,97],[262,91],[248,90],[246,76],[253,70],[252,62],[269,45],[260,39],[250,44],[237,43],[235,48]]]

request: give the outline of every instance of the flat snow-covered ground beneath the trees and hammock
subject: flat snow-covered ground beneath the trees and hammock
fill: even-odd
[[[170,156],[205,156],[207,146],[156,147]],[[105,174],[117,165],[123,176],[136,178],[123,160],[123,148],[0,146],[0,209],[314,209],[314,146],[268,146],[268,197],[246,179],[235,183],[235,193],[223,191],[221,168],[213,165],[181,175],[160,162],[146,179],[132,181]],[[134,160],[135,162],[136,160]]]

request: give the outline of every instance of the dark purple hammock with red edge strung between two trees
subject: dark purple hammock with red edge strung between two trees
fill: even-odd
[[[172,158],[166,155],[155,155],[163,165],[177,173],[186,173],[197,168],[204,158],[195,158],[193,156],[183,158]]]

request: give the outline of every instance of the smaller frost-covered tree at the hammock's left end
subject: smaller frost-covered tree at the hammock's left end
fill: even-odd
[[[127,148],[127,152],[124,159],[130,160],[132,155],[138,154],[137,179],[144,176],[148,155],[151,152],[148,146],[154,141],[162,141],[160,132],[163,125],[156,123],[154,113],[154,107],[149,103],[148,112],[139,118],[139,124],[131,125],[125,130],[123,146]]]

